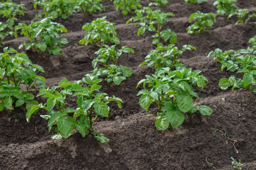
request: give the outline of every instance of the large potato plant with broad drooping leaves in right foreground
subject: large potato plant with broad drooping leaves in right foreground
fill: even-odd
[[[184,119],[184,113],[195,113],[199,110],[202,115],[211,115],[212,109],[201,105],[193,106],[193,97],[199,99],[193,86],[203,88],[208,82],[207,78],[199,75],[201,71],[192,69],[170,71],[169,67],[163,68],[157,74],[146,75],[137,84],[143,84],[143,89],[138,92],[140,106],[147,110],[155,102],[159,112],[155,126],[158,130],[179,127]],[[148,84],[149,90],[146,89]],[[137,88],[136,87],[136,88]]]

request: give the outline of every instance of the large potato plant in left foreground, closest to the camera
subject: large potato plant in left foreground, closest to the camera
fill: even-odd
[[[81,83],[85,82],[87,86],[83,87]],[[83,79],[70,83],[66,78],[62,79],[58,86],[52,88],[41,89],[37,96],[48,98],[45,104],[40,103],[34,105],[27,112],[26,119],[30,120],[32,114],[39,109],[47,111],[47,115],[41,115],[42,118],[49,120],[49,132],[53,126],[56,134],[52,135],[53,139],[67,138],[77,129],[84,137],[86,133],[92,134],[94,138],[101,143],[109,141],[103,134],[94,131],[92,124],[98,116],[107,117],[109,115],[109,106],[111,101],[118,103],[118,107],[122,108],[122,100],[115,96],[109,97],[106,93],[100,93],[102,87],[98,85],[102,79],[97,76],[86,75]],[[59,91],[58,91],[59,89]],[[67,105],[71,101],[67,101],[67,97],[76,98],[77,108],[69,108]]]

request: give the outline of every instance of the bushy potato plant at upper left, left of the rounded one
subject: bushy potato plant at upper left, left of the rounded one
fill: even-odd
[[[22,43],[19,49],[25,47],[26,50],[33,48],[38,49],[39,52],[46,51],[48,54],[57,55],[61,53],[60,47],[68,43],[68,40],[62,38],[59,40],[61,33],[66,33],[67,29],[59,23],[52,22],[49,18],[41,21],[36,21],[29,25],[19,23],[15,26],[15,31],[21,30],[21,35],[29,38],[29,43]]]

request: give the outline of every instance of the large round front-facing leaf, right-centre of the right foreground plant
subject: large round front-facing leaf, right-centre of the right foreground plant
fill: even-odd
[[[176,96],[178,108],[183,112],[186,113],[190,110],[193,106],[193,98],[190,95],[179,94]]]

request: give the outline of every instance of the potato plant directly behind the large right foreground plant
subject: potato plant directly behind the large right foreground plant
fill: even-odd
[[[164,67],[170,67],[171,70],[186,69],[186,66],[181,64],[178,58],[181,57],[185,50],[191,49],[195,50],[196,48],[192,45],[183,45],[182,49],[179,50],[175,44],[169,44],[168,46],[158,44],[155,50],[151,50],[148,53],[145,57],[145,61],[143,61],[140,66],[147,64],[148,67],[155,69],[155,74]]]

